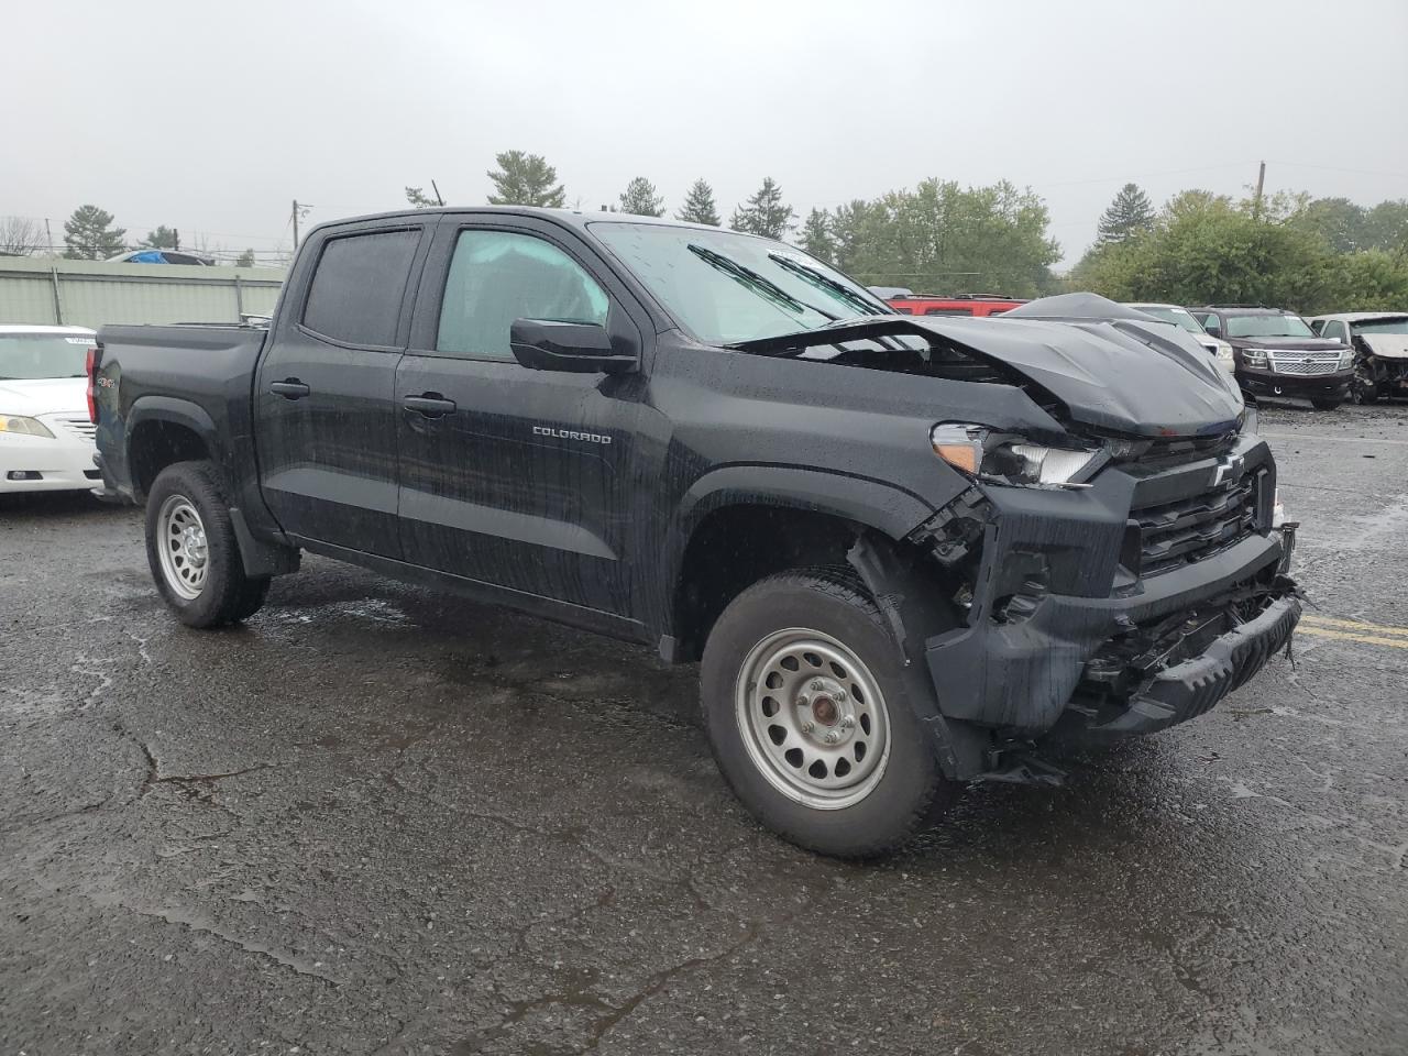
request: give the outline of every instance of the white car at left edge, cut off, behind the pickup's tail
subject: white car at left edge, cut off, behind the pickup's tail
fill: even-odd
[[[0,325],[0,494],[101,486],[83,327]]]

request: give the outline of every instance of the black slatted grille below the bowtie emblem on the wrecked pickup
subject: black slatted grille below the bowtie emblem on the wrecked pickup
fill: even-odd
[[[1131,517],[1139,524],[1139,573],[1157,576],[1181,569],[1250,535],[1259,479],[1249,473],[1231,487],[1135,510]]]

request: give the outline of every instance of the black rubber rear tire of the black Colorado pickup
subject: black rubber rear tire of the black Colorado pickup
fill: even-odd
[[[179,508],[182,501],[194,510],[204,529],[204,573],[199,589],[190,583],[179,586],[179,573],[169,573],[162,558],[163,546],[177,549],[169,538],[170,525],[163,524],[163,511]],[[187,627],[225,627],[248,620],[269,593],[268,577],[245,574],[225,489],[210,462],[177,462],[156,476],[146,496],[146,563],[162,600]],[[194,597],[189,596],[191,591]]]

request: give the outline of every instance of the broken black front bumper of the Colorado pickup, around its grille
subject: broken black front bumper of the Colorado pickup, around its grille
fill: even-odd
[[[1080,725],[1148,732],[1201,714],[1255,674],[1284,646],[1300,603],[1284,576],[1290,539],[1270,525],[1276,484],[1270,452],[1252,436],[1221,460],[1229,456],[1263,496],[1256,529],[1181,567],[1143,577],[1131,574],[1140,563],[1131,511],[1204,494],[1219,458],[1173,469],[1112,467],[1083,491],[987,489],[988,521],[967,622],[928,638],[924,648],[942,715],[1005,738],[1042,738],[1067,711]],[[1200,632],[1195,650],[1194,639],[1181,642],[1169,653],[1176,662],[1139,667],[1139,677],[1118,660],[1095,670],[1121,656],[1124,643],[1155,642],[1171,634],[1156,628],[1194,615],[1205,628],[1214,627],[1209,621],[1224,629],[1236,620],[1246,622],[1240,636],[1222,645],[1208,641],[1212,631]],[[1098,707],[1087,704],[1093,693]],[[1191,697],[1184,700],[1184,693]],[[1136,704],[1148,714],[1135,711],[1118,725]]]

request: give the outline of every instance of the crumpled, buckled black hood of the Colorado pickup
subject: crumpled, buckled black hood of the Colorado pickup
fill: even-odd
[[[1007,367],[1008,375],[1018,375],[1036,390],[1039,403],[1045,396],[1060,404],[1064,415],[1057,417],[1069,418],[1067,427],[1080,424],[1131,436],[1198,436],[1236,427],[1245,410],[1242,396],[1191,334],[1102,297],[1081,297],[1110,311],[1063,321],[1014,318],[1029,315],[1024,308],[993,318],[869,315],[736,348],[796,355],[798,349],[842,341],[918,334],[931,344],[955,345],[977,360]],[[860,369],[886,369],[884,355],[869,358]],[[974,401],[973,421],[981,422],[980,401]]]

